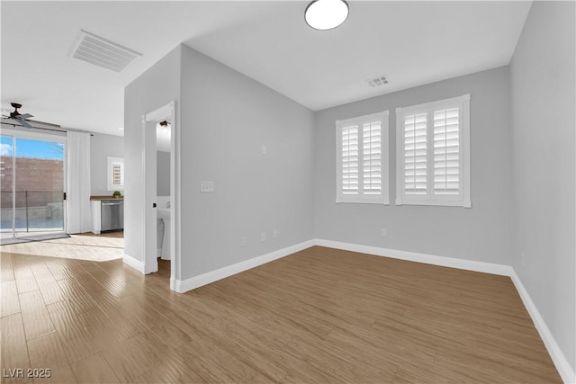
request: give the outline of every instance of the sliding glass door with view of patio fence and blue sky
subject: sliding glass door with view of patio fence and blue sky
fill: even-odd
[[[2,238],[63,232],[65,138],[6,130],[0,137]]]

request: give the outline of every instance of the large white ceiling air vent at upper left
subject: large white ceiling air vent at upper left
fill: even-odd
[[[94,64],[94,66],[121,72],[134,58],[142,54],[96,36],[94,33],[81,30],[68,56]]]

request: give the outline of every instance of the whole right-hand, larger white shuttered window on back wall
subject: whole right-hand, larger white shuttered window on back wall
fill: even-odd
[[[396,109],[396,205],[472,206],[470,94]]]

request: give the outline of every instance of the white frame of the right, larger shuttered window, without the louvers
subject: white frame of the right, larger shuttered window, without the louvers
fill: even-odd
[[[437,205],[472,208],[470,198],[470,94],[396,108],[396,205]],[[437,195],[434,193],[434,124],[430,124],[437,110],[459,108],[459,162],[460,193],[458,195]],[[421,196],[407,195],[404,192],[404,139],[405,118],[412,114],[427,115],[427,193]],[[430,150],[431,149],[431,150]],[[432,183],[430,181],[432,180]]]

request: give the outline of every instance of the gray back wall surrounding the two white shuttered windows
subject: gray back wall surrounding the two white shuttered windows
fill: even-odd
[[[473,208],[394,205],[395,109],[471,94]],[[349,103],[316,114],[316,237],[489,263],[509,264],[509,70],[500,67]],[[390,113],[391,205],[346,204],[336,199],[335,121]],[[381,228],[388,236],[381,236]]]

